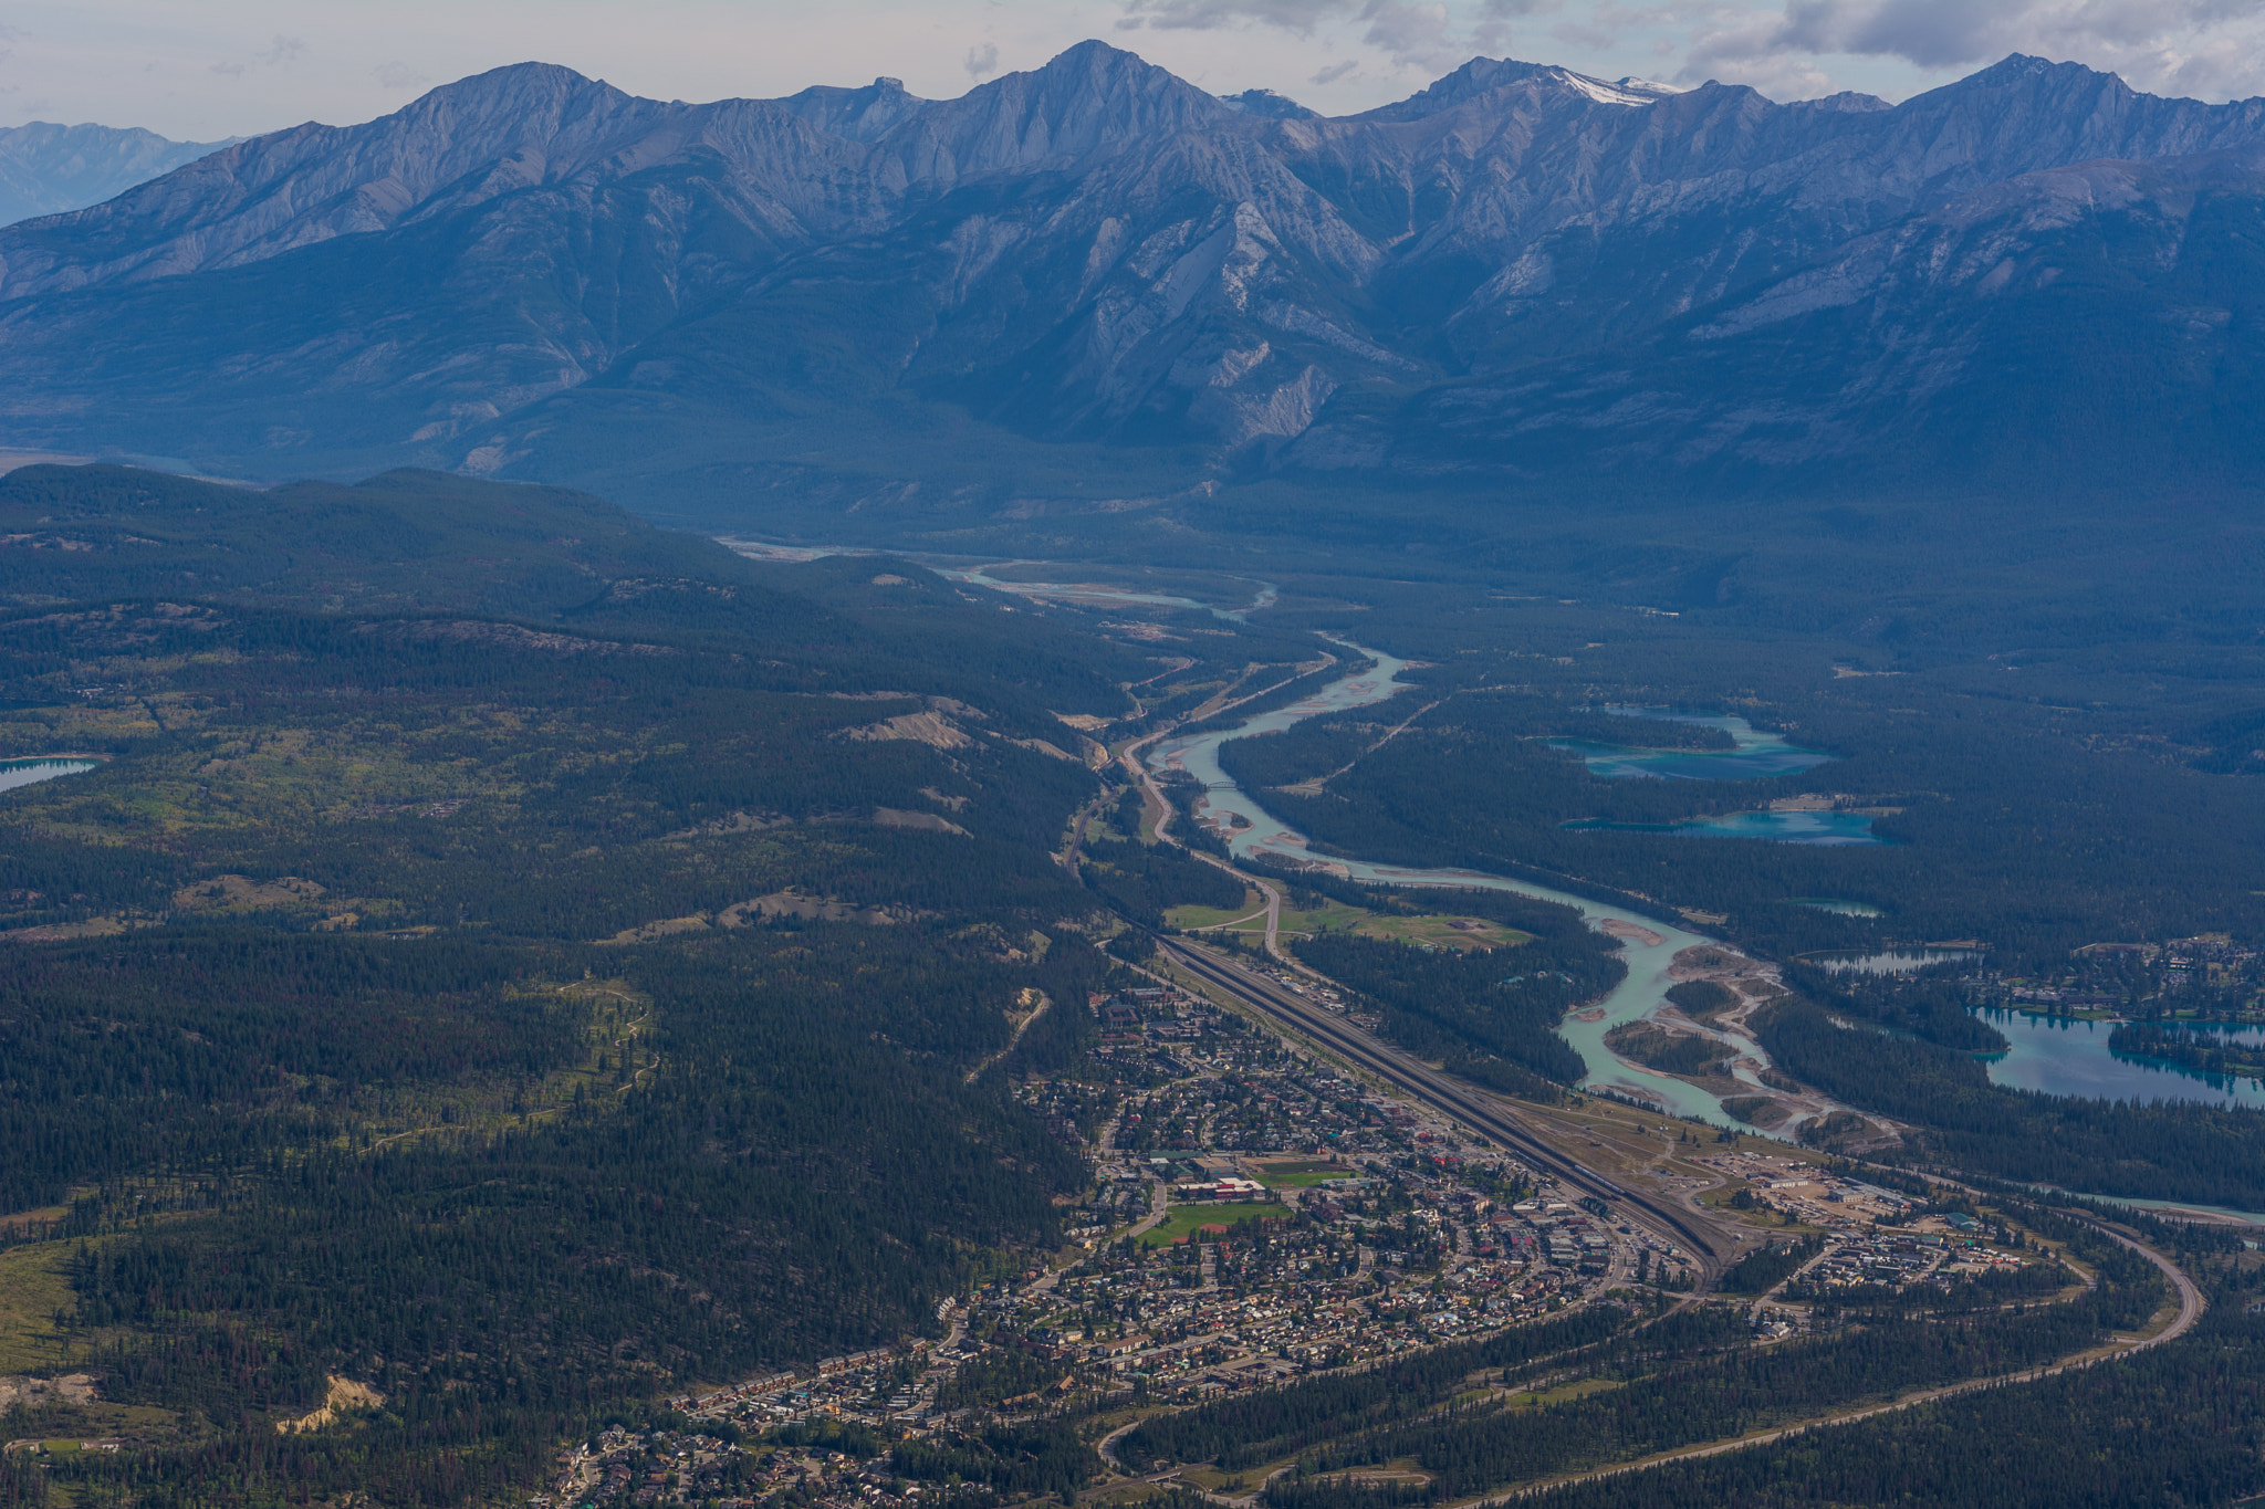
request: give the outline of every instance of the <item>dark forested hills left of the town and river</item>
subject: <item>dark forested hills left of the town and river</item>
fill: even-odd
[[[102,1380],[11,1434],[134,1437],[75,1482],[507,1498],[1060,1238],[1083,1163],[969,1072],[1040,995],[1019,1061],[1096,1036],[1060,715],[1126,713],[1144,645],[541,489],[34,468],[7,509],[91,536],[0,570],[50,597],[0,615],[0,753],[102,756],[0,796],[0,1242]],[[1291,658],[1212,643],[1151,699]],[[331,1376],[383,1409],[276,1434]],[[1031,1450],[999,1489],[1087,1452]]]

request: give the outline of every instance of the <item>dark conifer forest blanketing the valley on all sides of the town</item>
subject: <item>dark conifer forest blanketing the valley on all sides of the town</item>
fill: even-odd
[[[1157,609],[1135,631],[895,559],[754,563],[573,493],[421,473],[249,509],[122,468],[23,468],[0,480],[0,520],[79,541],[0,552],[0,756],[95,765],[0,792],[0,1262],[52,1296],[20,1366],[102,1378],[93,1414],[18,1409],[7,1434],[136,1441],[50,1480],[9,1459],[0,1504],[510,1500],[559,1441],[661,1419],[686,1387],[935,1333],[942,1294],[1053,1249],[1089,1188],[1060,1118],[1008,1084],[1092,1061],[1083,1007],[1148,957],[1119,921],[1248,900],[1221,866],[1139,839],[1142,796],[1103,742],[1228,695],[1255,701],[1223,717],[1284,706],[1357,654],[1334,640],[1339,665],[1311,670],[1307,629],[1345,629],[1318,593],[1250,622]],[[1361,633],[1427,652],[1404,701],[1223,753],[1314,853],[1681,907],[1780,962],[1792,993],[1749,1018],[1778,1070],[1912,1129],[1875,1149],[1905,1170],[1864,1176],[2265,1201],[2251,1113],[2000,1090],[1975,1052],[2002,1038],[1946,982],[1801,962],[1975,937],[2027,966],[2102,939],[2256,937],[2260,787],[2229,756],[2249,724],[2138,695],[2077,713],[2072,672],[2009,697],[1968,672],[1796,665],[1814,645],[1787,649],[1789,631],[1669,645],[1644,618],[1592,640],[1608,611],[1558,602],[1520,640],[1481,622],[1490,602],[1373,595]],[[1606,713],[1631,704],[1737,708],[1832,758],[1608,781],[1556,747],[1730,753],[1712,726]],[[1194,781],[1160,785],[1189,848],[1223,853],[1189,821]],[[1268,790],[1284,785],[1307,794]],[[1855,812],[1884,842],[1565,826],[1769,803]],[[1271,880],[1309,912],[1441,907],[1316,871]],[[1565,1106],[1583,1066],[1556,1027],[1624,977],[1617,946],[1567,907],[1497,891],[1452,907],[1524,937],[1452,950],[1316,928],[1287,946],[1402,1047]],[[1669,1000],[1696,1023],[1737,1004],[1706,982]],[[2211,1052],[2149,1032],[2161,1052]],[[1667,1038],[1624,1047],[1690,1068],[1676,1054],[1696,1038]],[[1117,1450],[1223,1473],[1289,1461],[1248,1486],[1271,1509],[1434,1504],[2002,1378],[2163,1301],[2156,1271],[2088,1226],[2023,1219],[2097,1285],[2070,1292],[2070,1269],[2038,1262],[1925,1294],[1803,1292],[1832,1326],[1771,1346],[1740,1308],[1626,1287],[1484,1342],[1148,1414]],[[2258,1428],[2258,1269],[2152,1235],[2183,1240],[2213,1285],[2208,1323],[2170,1346],[1826,1448],[1794,1437],[1542,1498],[2254,1491],[2226,1441]],[[1764,1294],[1812,1251],[1787,1233],[1721,1292]],[[333,1376],[383,1407],[281,1434]],[[983,1504],[1074,1498],[1094,1421],[990,1414],[1037,1376],[1069,1364],[947,1385],[974,1414],[899,1446],[892,1471]],[[2097,1473],[2032,1450],[2048,1419],[2102,1443]],[[2020,1437],[2014,1466],[1984,1461],[1982,1432]]]

